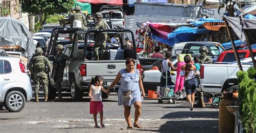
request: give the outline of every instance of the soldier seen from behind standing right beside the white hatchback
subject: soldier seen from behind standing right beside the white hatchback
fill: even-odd
[[[42,48],[36,48],[36,56],[33,56],[29,62],[29,71],[31,75],[33,75],[33,81],[35,82],[35,94],[36,94],[36,102],[38,100],[39,93],[39,83],[43,83],[44,87],[44,101],[48,100],[48,73],[50,72],[50,62],[48,58],[42,55]]]

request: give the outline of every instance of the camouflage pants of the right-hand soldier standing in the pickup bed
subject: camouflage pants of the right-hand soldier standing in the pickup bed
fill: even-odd
[[[106,39],[107,39],[106,34],[96,35],[95,46],[94,46],[96,60],[99,60],[99,50],[100,50],[100,48],[101,48],[100,52],[102,52],[102,53],[106,49]]]

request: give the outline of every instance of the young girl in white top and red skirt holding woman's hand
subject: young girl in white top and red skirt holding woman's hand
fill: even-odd
[[[102,128],[105,127],[103,124],[103,104],[102,104],[102,91],[107,93],[102,86],[103,78],[102,76],[95,76],[92,77],[91,86],[89,90],[89,97],[91,98],[90,101],[90,114],[93,114],[93,119],[95,121],[95,128],[99,128],[97,123],[97,114],[99,113],[100,116],[100,126]]]

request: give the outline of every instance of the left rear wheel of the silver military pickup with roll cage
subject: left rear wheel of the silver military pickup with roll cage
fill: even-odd
[[[72,101],[82,101],[83,99],[83,91],[77,87],[74,79],[71,80],[70,95]]]

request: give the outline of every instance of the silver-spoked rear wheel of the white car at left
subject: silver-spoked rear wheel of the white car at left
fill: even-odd
[[[25,106],[25,97],[19,91],[11,91],[4,100],[4,106],[9,112],[20,112]]]

